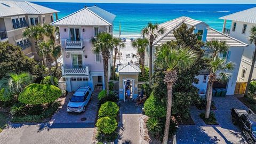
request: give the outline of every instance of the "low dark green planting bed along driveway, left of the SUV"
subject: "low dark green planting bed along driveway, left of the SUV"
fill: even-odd
[[[55,111],[58,110],[60,106],[59,102],[52,103],[49,107],[44,109],[41,115],[26,115],[26,116],[14,116],[11,119],[13,123],[25,123],[25,122],[34,122],[34,123],[41,123],[44,121],[45,118],[51,117]]]

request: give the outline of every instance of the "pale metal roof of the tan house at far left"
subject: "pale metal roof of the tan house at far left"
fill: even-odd
[[[47,14],[59,11],[26,1],[0,1],[0,18],[23,14]]]

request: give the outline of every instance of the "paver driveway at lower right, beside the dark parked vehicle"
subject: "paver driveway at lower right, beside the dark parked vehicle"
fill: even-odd
[[[191,117],[196,125],[179,125],[177,143],[246,143],[238,127],[232,124],[230,109],[248,108],[233,96],[213,97],[217,110],[212,110],[219,125],[206,125],[199,114],[205,110],[191,108]]]

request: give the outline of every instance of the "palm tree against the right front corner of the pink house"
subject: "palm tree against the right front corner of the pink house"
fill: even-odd
[[[100,33],[97,38],[92,37],[92,51],[94,53],[100,53],[103,57],[103,69],[105,79],[105,89],[109,93],[108,85],[108,60],[110,59],[110,51],[115,47],[113,36],[107,32]]]

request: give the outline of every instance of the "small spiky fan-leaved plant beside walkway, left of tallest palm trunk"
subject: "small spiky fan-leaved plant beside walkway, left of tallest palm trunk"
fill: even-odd
[[[146,123],[147,130],[153,135],[160,133],[163,129],[163,124],[156,117],[150,117]]]

